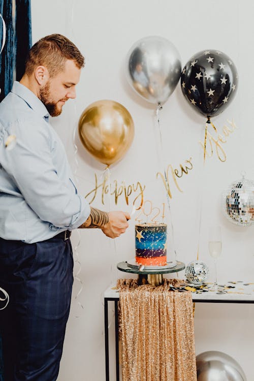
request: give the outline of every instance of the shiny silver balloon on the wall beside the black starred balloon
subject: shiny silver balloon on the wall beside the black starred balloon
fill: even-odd
[[[181,75],[180,55],[167,39],[150,36],[137,41],[127,57],[131,86],[148,102],[163,104]]]

